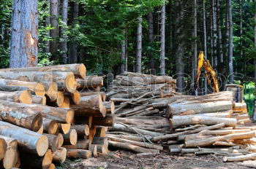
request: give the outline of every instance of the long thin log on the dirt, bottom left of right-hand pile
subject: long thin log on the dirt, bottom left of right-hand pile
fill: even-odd
[[[108,136],[108,139],[111,140],[111,141],[118,141],[120,143],[126,143],[126,144],[132,144],[132,145],[135,145],[135,146],[141,146],[141,147],[145,147],[145,148],[148,148],[148,149],[163,150],[162,146],[159,146],[159,145],[156,145],[156,144],[148,144],[148,143],[145,143],[145,142],[143,143],[143,142],[139,142],[139,141],[129,141],[129,140],[126,140],[126,139],[115,138],[115,137],[112,137],[112,136]]]

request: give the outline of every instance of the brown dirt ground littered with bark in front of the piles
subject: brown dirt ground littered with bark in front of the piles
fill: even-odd
[[[250,166],[250,167],[245,167]],[[178,168],[178,169],[245,169],[256,168],[256,161],[247,162],[222,162],[221,156],[214,154],[195,156],[194,154],[186,154],[183,156],[171,155],[168,152],[162,152],[155,157],[136,157],[132,152],[116,151],[110,152],[107,156],[91,158],[89,160],[67,160],[59,169],[123,169],[123,168]]]

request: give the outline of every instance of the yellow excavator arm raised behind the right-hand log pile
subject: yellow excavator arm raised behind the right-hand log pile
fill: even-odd
[[[214,89],[214,93],[218,93],[219,92],[219,84],[218,84],[218,80],[216,78],[214,68],[211,67],[211,64],[210,64],[209,60],[206,60],[206,58],[203,55],[203,52],[201,51],[199,56],[198,56],[198,65],[197,65],[197,74],[196,74],[197,86],[199,84],[199,78],[200,78],[202,68],[204,68],[204,70],[205,70],[205,74],[206,74],[208,84],[212,84],[212,87]],[[211,79],[212,79],[212,81],[211,81]]]

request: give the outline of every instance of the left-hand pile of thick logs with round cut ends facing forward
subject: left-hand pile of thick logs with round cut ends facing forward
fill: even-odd
[[[115,106],[83,64],[0,69],[0,165],[55,168],[108,153]]]

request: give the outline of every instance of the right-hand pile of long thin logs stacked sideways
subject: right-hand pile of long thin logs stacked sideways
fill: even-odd
[[[130,78],[137,75],[142,78]],[[129,72],[117,76],[109,93],[117,108],[116,123],[107,134],[110,147],[138,156],[168,147],[171,153],[223,155],[225,161],[255,158],[251,153],[255,152],[256,127],[249,126],[246,104],[234,103],[233,93],[178,95],[173,88],[162,87],[168,82],[161,86],[154,79]],[[148,82],[155,82],[155,87]],[[174,82],[171,79],[169,84],[175,87]],[[157,95],[157,91],[166,93]]]

